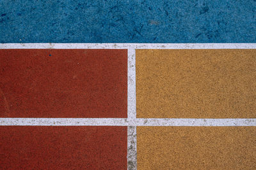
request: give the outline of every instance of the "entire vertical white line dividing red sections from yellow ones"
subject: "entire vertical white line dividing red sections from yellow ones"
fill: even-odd
[[[128,48],[127,77],[127,121],[136,120],[136,55],[134,48]],[[127,169],[137,169],[137,137],[136,126],[127,127]]]

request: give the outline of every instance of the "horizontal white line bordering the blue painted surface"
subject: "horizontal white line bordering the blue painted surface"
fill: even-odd
[[[256,43],[1,43],[0,49],[255,49]]]

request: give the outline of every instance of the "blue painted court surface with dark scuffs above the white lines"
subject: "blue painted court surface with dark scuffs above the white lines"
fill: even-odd
[[[0,42],[256,43],[256,0],[1,0]]]

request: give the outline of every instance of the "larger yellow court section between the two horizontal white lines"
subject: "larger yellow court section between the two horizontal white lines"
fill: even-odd
[[[138,118],[256,118],[256,50],[136,50]]]

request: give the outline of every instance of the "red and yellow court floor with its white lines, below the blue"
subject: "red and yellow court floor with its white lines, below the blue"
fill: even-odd
[[[254,169],[255,44],[2,44],[2,169]]]

